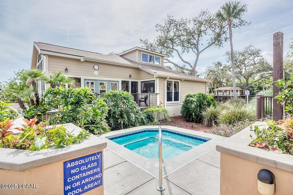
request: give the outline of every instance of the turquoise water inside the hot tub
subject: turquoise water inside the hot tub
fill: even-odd
[[[159,158],[159,132],[157,130],[155,130],[156,132],[153,131],[154,130],[144,130],[141,133],[132,133],[121,138],[110,138],[110,140],[144,156],[145,158]],[[184,134],[177,135],[176,133],[174,134],[174,132],[166,132],[166,130],[162,130],[163,158],[173,158],[207,141],[205,139],[203,141],[197,140],[200,139],[197,137],[189,137],[190,136],[187,137]]]

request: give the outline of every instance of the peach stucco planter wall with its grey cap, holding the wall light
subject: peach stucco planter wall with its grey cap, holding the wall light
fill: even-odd
[[[255,122],[253,125],[265,124]],[[217,145],[221,152],[221,195],[259,195],[257,174],[270,170],[276,177],[275,195],[293,194],[293,156],[249,146],[250,127]]]

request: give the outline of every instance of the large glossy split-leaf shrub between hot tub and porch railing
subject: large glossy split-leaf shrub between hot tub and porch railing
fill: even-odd
[[[103,94],[108,102],[108,121],[111,129],[125,129],[147,124],[146,114],[134,102],[131,94],[124,91],[112,91]]]

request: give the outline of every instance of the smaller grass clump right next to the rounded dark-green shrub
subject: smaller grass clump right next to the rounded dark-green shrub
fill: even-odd
[[[202,123],[206,126],[212,126],[217,124],[221,113],[220,106],[210,106],[201,112]]]

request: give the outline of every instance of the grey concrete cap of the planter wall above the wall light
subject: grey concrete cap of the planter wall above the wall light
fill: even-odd
[[[265,124],[265,122],[255,122],[252,126]],[[231,156],[236,156],[248,161],[293,173],[292,155],[278,154],[273,151],[249,146],[252,141],[249,135],[252,135],[255,138],[255,134],[253,131],[250,131],[250,127],[246,127],[242,131],[219,143],[216,146],[216,150]]]

